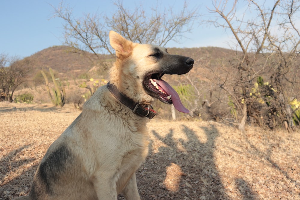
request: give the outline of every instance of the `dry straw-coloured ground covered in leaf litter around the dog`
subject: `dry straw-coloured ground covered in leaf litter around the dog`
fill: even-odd
[[[28,194],[47,148],[79,113],[71,105],[0,102],[0,199]],[[299,132],[159,119],[148,127],[141,199],[300,199]]]

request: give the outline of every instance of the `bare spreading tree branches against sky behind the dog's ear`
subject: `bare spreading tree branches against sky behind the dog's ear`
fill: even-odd
[[[137,43],[156,43],[165,46],[170,40],[179,41],[186,32],[191,31],[193,21],[197,18],[197,8],[188,9],[184,3],[179,13],[172,7],[159,12],[159,7],[147,13],[142,7],[128,10],[121,1],[115,1],[116,12],[113,16],[85,14],[74,18],[72,9],[65,7],[63,2],[53,7],[54,17],[64,20],[64,43],[75,47],[80,52],[88,51],[98,56],[100,53],[114,55],[110,46],[108,32],[114,30]]]

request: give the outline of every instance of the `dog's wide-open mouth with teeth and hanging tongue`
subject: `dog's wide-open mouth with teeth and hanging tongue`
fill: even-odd
[[[179,112],[189,113],[190,111],[182,105],[179,95],[166,81],[161,79],[163,73],[149,74],[144,79],[144,87],[147,93],[158,100],[172,104]]]

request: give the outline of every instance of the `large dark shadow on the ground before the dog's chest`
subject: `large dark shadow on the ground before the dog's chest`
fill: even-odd
[[[164,137],[152,131],[164,145],[157,153],[150,148],[149,157],[137,171],[141,199],[229,199],[214,162],[219,132],[214,125],[200,128],[206,134],[205,143],[185,125],[182,133],[186,141],[176,141],[172,129]]]

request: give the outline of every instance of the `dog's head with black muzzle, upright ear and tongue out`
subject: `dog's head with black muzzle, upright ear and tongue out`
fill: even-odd
[[[161,77],[164,74],[185,74],[194,60],[182,55],[171,55],[163,47],[138,44],[110,31],[110,44],[117,60],[110,72],[110,82],[138,103],[151,104],[156,98],[172,104],[180,112],[188,113],[176,91]]]

